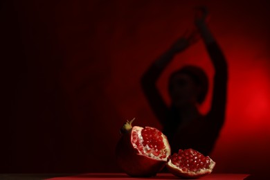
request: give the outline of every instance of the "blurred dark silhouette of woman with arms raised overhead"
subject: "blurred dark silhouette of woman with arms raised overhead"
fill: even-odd
[[[154,114],[163,125],[172,152],[193,148],[210,154],[224,124],[226,110],[227,64],[222,51],[210,32],[206,19],[206,8],[199,8],[195,16],[196,31],[180,37],[171,48],[150,66],[141,79],[143,91]],[[174,55],[181,53],[197,42],[198,35],[204,41],[210,60],[215,68],[213,97],[210,110],[200,114],[198,105],[204,102],[208,92],[208,78],[197,66],[183,66],[172,73],[169,79],[171,105],[165,105],[156,88],[156,81]]]

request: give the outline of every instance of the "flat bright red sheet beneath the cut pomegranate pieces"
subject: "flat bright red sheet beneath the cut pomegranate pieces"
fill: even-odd
[[[201,177],[199,179],[219,179],[219,180],[228,180],[228,179],[244,179],[248,177],[249,174],[208,174],[206,177]],[[117,174],[117,173],[90,173],[90,174],[78,174],[71,177],[54,177],[49,180],[86,180],[86,179],[97,179],[97,180],[114,180],[114,179],[179,179],[178,177],[174,177],[174,175],[169,173],[160,173],[157,174],[156,177],[149,177],[149,178],[136,178],[136,177],[129,177],[127,174]]]

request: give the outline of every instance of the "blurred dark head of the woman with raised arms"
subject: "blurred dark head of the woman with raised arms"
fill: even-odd
[[[204,102],[207,92],[207,75],[197,66],[183,66],[170,75],[170,98],[172,104],[177,107],[187,104],[201,104]]]

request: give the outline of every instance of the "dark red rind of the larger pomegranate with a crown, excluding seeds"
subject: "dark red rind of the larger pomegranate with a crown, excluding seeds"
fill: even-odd
[[[134,129],[143,129],[136,127]],[[151,156],[141,154],[132,144],[132,131],[128,134],[123,134],[118,144],[116,145],[116,161],[120,168],[131,177],[154,177],[157,172],[161,171],[167,163],[170,156],[170,145],[164,135],[168,156],[164,159],[156,159]]]

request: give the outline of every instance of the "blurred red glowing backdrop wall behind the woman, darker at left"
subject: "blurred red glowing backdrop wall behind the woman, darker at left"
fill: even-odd
[[[143,72],[192,27],[194,6],[228,59],[226,123],[212,157],[216,172],[269,167],[269,3],[264,1],[3,1],[1,172],[118,172],[118,128],[161,129],[141,91]],[[213,77],[204,44],[176,57]],[[201,111],[209,108],[210,96]]]

